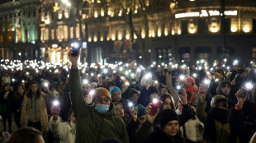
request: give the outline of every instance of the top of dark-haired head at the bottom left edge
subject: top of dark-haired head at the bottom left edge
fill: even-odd
[[[39,141],[39,136],[42,136],[42,133],[32,127],[21,127],[17,131],[13,132],[12,136],[6,143],[35,143]]]

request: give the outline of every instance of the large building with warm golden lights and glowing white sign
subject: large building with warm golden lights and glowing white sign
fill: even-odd
[[[87,44],[81,62],[142,62],[146,56],[159,64],[195,64],[256,58],[254,0],[43,0],[36,10],[36,49],[48,62],[68,62],[75,42]],[[26,38],[29,29],[20,26],[16,41],[30,44],[33,36]]]

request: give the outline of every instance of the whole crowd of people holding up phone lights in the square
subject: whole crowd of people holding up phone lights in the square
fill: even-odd
[[[2,139],[13,142],[255,142],[254,65],[70,66],[1,61]],[[12,133],[12,116],[18,130]],[[7,128],[8,123],[8,128]],[[8,133],[11,136],[7,136]]]

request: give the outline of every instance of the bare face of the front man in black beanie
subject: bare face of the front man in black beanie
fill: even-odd
[[[178,121],[173,120],[168,122],[165,126],[163,131],[168,135],[168,136],[176,136],[178,133]]]

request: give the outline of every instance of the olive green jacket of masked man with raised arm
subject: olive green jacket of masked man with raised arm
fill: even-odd
[[[98,113],[93,106],[84,102],[77,68],[70,70],[69,90],[73,112],[77,118],[76,143],[98,143],[110,138],[119,139],[124,143],[129,142],[126,125],[116,115],[114,104],[110,105],[107,113]]]

